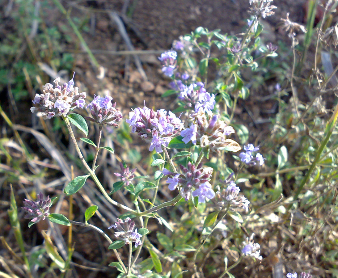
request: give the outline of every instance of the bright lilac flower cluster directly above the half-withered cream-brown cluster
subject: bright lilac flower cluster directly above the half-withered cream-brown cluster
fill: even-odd
[[[202,82],[190,84],[188,87],[184,86],[178,99],[182,100],[186,107],[193,109],[196,113],[200,110],[203,112],[209,112],[214,109],[216,101],[215,95],[210,95]]]

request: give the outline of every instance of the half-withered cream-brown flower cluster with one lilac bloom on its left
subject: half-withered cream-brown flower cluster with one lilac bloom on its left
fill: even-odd
[[[226,137],[235,133],[233,127],[226,125],[224,121],[219,120],[218,115],[199,111],[191,115],[193,122],[190,127],[181,131],[182,141],[184,143],[192,142],[194,145],[200,145],[202,148],[208,147],[211,152],[220,150],[231,150],[237,152],[241,149],[234,140]]]

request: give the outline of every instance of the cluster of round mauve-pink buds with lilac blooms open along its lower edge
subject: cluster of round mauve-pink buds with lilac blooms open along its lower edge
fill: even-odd
[[[201,166],[202,164],[199,164],[196,167],[189,161],[187,167],[179,166],[183,174],[173,173],[164,169],[162,173],[165,176],[172,176],[172,178],[169,177],[167,179],[169,190],[173,191],[176,187],[179,187],[180,193],[186,201],[191,196],[198,197],[199,203],[205,203],[206,198],[214,198],[215,192],[209,183],[213,169],[211,167],[202,168]],[[193,189],[195,190],[192,191]]]

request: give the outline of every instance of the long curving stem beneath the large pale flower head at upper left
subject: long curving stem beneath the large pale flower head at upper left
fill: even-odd
[[[97,187],[100,189],[101,193],[103,194],[103,196],[108,200],[108,202],[110,202],[111,204],[119,207],[119,208],[122,208],[122,209],[125,209],[129,212],[132,212],[132,213],[135,213],[137,214],[137,212],[131,208],[128,208],[127,206],[125,205],[122,205],[116,201],[114,201],[109,195],[108,193],[105,191],[105,189],[103,188],[101,182],[99,181],[99,179],[97,178],[96,174],[92,171],[92,169],[89,167],[88,163],[86,162],[86,160],[84,159],[82,153],[81,153],[81,150],[76,142],[76,138],[75,138],[75,135],[74,135],[74,132],[72,130],[72,127],[70,125],[70,122],[68,120],[68,118],[66,116],[62,116],[63,120],[65,121],[66,123],[66,127],[68,129],[68,132],[69,132],[69,135],[72,139],[72,142],[75,146],[75,150],[77,152],[77,155],[78,157],[80,158],[83,166],[87,169],[87,171],[89,172],[90,176],[92,177],[92,179],[94,180],[94,182],[96,183]]]

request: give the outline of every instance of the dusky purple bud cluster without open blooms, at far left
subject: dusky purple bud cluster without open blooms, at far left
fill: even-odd
[[[31,222],[38,223],[40,220],[45,220],[49,215],[49,209],[52,205],[51,199],[49,196],[44,199],[43,194],[38,194],[37,200],[30,201],[24,199],[24,206],[22,207],[26,211],[26,219],[31,219]]]

